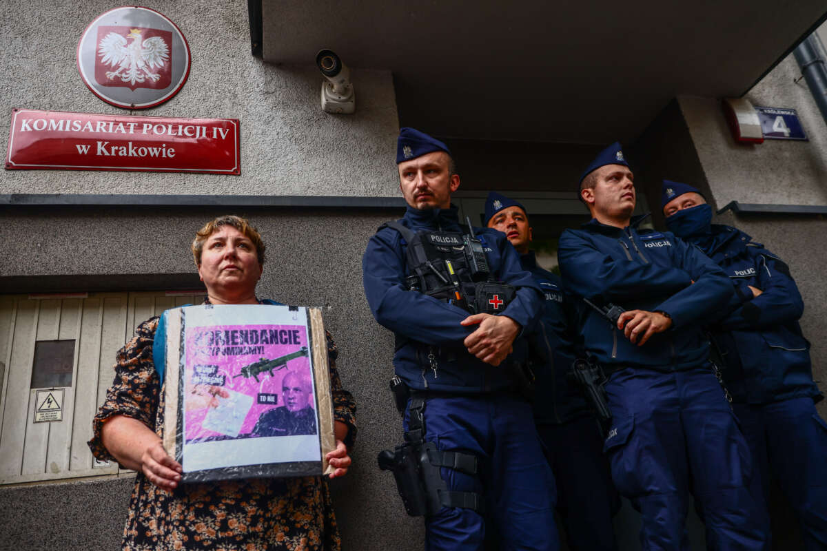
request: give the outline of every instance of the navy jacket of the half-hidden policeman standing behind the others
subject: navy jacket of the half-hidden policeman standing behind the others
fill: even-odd
[[[590,415],[581,392],[566,378],[576,357],[574,299],[563,293],[557,275],[538,266],[534,251],[521,254],[520,264],[531,273],[545,297],[543,313],[532,334],[534,349],[541,358],[533,366],[534,420],[538,424],[561,424]]]

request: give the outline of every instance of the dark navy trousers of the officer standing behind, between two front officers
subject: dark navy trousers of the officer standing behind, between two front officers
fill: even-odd
[[[603,437],[592,416],[538,425],[557,482],[557,512],[571,551],[614,551],[612,517],[620,496],[612,484]]]

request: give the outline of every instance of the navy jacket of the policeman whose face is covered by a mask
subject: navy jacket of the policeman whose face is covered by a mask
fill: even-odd
[[[810,366],[810,343],[798,320],[804,302],[786,264],[731,226],[693,235],[729,276],[735,293],[711,325],[735,401],[762,404],[796,397],[820,399]],[[762,290],[758,297],[748,286]]]

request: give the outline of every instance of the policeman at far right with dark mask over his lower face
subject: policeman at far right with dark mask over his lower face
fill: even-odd
[[[767,498],[770,472],[801,522],[806,549],[827,549],[827,424],[815,411],[810,343],[798,320],[804,302],[782,259],[731,226],[686,183],[663,180],[667,226],[715,261],[734,295],[710,325],[724,381]]]

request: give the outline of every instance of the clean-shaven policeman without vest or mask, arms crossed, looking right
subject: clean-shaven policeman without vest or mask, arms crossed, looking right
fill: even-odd
[[[610,373],[612,422],[604,449],[614,485],[642,515],[643,549],[689,549],[689,494],[704,511],[710,549],[767,549],[767,515],[750,495],[752,465],[712,373],[700,323],[732,284],[699,249],[638,229],[633,173],[615,143],[581,176],[592,220],[565,230],[563,285],[584,310],[586,352]],[[624,309],[616,321],[603,314]]]

